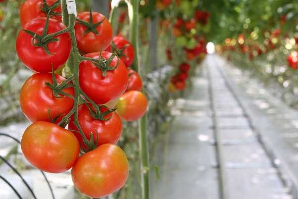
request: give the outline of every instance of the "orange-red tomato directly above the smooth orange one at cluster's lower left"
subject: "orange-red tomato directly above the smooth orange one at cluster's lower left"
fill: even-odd
[[[61,84],[64,77],[55,75],[57,84]],[[74,100],[70,97],[60,96],[55,98],[53,91],[46,85],[53,84],[51,73],[36,73],[26,80],[20,92],[20,106],[26,117],[32,121],[48,121],[50,115],[54,119],[61,119],[74,106]],[[66,88],[63,92],[74,96],[73,88]],[[59,121],[59,120],[58,120]]]

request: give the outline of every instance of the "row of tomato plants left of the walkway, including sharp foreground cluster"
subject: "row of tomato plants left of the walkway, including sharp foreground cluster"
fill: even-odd
[[[89,6],[77,1],[76,17],[66,0],[1,5],[0,34],[7,36],[1,45],[16,37],[19,58],[7,45],[0,64],[10,75],[0,82],[1,97],[26,73],[14,92],[32,122],[21,148],[33,166],[52,173],[72,168],[74,186],[89,197],[120,189],[111,196],[149,199],[149,174],[158,176],[158,166],[149,165],[148,148],[152,153],[168,131],[169,101],[191,87],[205,57],[210,14],[193,0],[113,0],[109,19]],[[20,27],[18,35],[9,33]]]

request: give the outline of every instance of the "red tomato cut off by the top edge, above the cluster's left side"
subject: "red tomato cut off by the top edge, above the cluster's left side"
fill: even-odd
[[[55,2],[57,2],[57,0],[46,0],[48,7],[53,5]],[[20,7],[20,20],[22,27],[24,27],[26,23],[30,22],[32,19],[47,17],[47,11],[42,10],[41,8],[45,8],[43,0],[26,0]],[[61,3],[58,3],[57,7],[51,10],[50,18],[61,22]]]

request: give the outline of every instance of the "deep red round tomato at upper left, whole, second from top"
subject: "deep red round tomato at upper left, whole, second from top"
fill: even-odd
[[[46,18],[36,18],[27,23],[25,30],[30,30],[38,35],[42,35]],[[65,25],[57,20],[49,20],[48,33],[55,33],[65,28]],[[20,60],[31,70],[36,72],[51,72],[63,65],[71,52],[71,39],[69,33],[64,33],[55,38],[56,42],[49,42],[48,55],[44,48],[32,45],[33,37],[21,30],[16,39],[16,52]]]

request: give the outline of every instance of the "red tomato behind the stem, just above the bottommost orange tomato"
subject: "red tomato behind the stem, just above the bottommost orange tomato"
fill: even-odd
[[[93,110],[94,107],[91,104],[88,104]],[[101,112],[107,111],[107,108],[100,108]],[[86,135],[87,139],[90,140],[91,132],[93,133],[94,140],[98,138],[97,146],[102,144],[111,143],[116,144],[121,136],[122,131],[122,122],[121,118],[116,112],[112,112],[104,117],[105,119],[110,118],[107,121],[101,121],[94,119],[86,104],[81,104],[78,107],[78,122]],[[74,115],[71,116],[70,123],[68,124],[68,129],[74,132],[74,135],[78,139],[80,145],[87,149],[87,146],[84,144],[82,136],[77,132],[77,128],[74,124]]]

